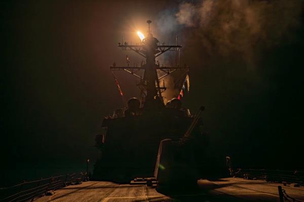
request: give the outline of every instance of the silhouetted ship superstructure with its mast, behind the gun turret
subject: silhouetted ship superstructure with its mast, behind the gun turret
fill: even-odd
[[[147,23],[149,27],[151,21]],[[182,107],[180,99],[173,98],[165,103],[162,96],[167,86],[160,82],[161,79],[176,71],[187,73],[189,70],[179,64],[174,67],[160,65],[156,60],[167,51],[178,52],[182,46],[177,41],[175,45],[161,44],[148,29],[141,44],[122,42],[118,46],[145,58],[140,66],[130,67],[128,63],[127,66],[113,64],[110,67],[111,71],[123,70],[138,78],[141,99],[129,99],[127,109],[121,108],[113,116],[104,118],[103,131],[96,136],[101,158],[95,164],[93,178],[129,182],[134,177],[153,176],[160,141],[182,138],[193,116]],[[144,71],[143,76],[139,71]],[[164,74],[159,77],[158,71]],[[199,127],[193,132],[200,133]]]

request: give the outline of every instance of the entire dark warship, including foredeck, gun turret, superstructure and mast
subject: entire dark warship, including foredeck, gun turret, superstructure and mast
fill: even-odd
[[[147,37],[138,33],[140,44],[118,45],[145,61],[130,67],[127,59],[126,67],[115,63],[110,67],[137,77],[141,97],[130,98],[127,107],[103,119],[95,139],[101,156],[93,176],[87,160],[87,172],[80,175],[0,188],[0,201],[304,201],[301,171],[236,169],[230,157],[225,158],[226,166],[224,161],[208,160],[204,107],[192,115],[180,100],[183,88],[189,88],[189,68],[179,62],[164,66],[156,60],[167,51],[179,53],[182,46],[177,40],[175,45],[161,44],[150,32],[151,21],[147,23]],[[162,82],[172,74],[173,85]]]

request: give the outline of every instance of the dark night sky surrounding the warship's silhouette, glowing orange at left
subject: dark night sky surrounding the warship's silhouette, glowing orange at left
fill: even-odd
[[[179,35],[183,61],[191,66],[191,93],[183,102],[192,112],[206,107],[213,156],[231,155],[240,167],[304,169],[303,4],[276,2],[251,1],[241,9],[260,14],[257,30],[254,23],[241,29],[228,23],[230,35],[221,35],[220,23],[231,20],[225,12],[240,11],[215,5],[208,25],[194,16],[192,25],[179,21],[171,36],[158,31],[157,21],[183,14],[182,1],[1,3],[3,171],[22,171],[19,180],[35,170],[83,170],[86,158],[98,158],[98,126],[122,105],[108,67],[125,63],[117,43],[122,36],[136,42],[134,28],[145,31],[148,17],[161,41]],[[202,1],[189,4],[205,8]],[[135,79],[117,75],[126,97],[138,96]]]

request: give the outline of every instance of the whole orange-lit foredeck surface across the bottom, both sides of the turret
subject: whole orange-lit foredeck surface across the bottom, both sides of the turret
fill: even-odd
[[[279,201],[278,186],[282,186],[279,183],[240,178],[199,180],[199,185],[199,191],[179,191],[166,196],[157,192],[155,187],[146,185],[89,181],[67,186],[51,196],[43,196],[35,201]],[[304,187],[282,188],[291,197],[304,201]]]

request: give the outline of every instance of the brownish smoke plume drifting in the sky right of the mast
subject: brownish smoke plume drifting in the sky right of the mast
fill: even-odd
[[[302,1],[204,0],[182,3],[175,17],[180,25],[197,31],[195,39],[209,54],[239,52],[252,62],[257,44],[272,46],[283,37],[291,38],[301,6]]]

